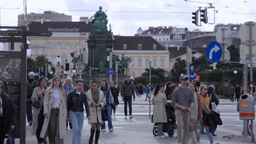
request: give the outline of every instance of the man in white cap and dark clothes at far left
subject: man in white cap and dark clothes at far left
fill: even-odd
[[[34,80],[34,72],[31,71],[28,74],[29,78],[26,82],[27,84],[27,122],[29,123],[29,126],[32,126],[32,101],[31,97],[33,95],[34,88],[36,87],[37,81]]]

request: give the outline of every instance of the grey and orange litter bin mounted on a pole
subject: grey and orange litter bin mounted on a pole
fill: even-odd
[[[254,120],[254,99],[249,94],[243,94],[239,99],[240,120]]]

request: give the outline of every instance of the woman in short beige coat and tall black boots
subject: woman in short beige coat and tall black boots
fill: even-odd
[[[89,139],[89,144],[92,144],[92,139],[94,139],[95,134],[95,144],[98,143],[98,138],[101,133],[101,107],[104,107],[106,100],[102,91],[97,89],[98,83],[96,81],[91,82],[91,89],[87,92],[88,104],[90,106],[90,115],[91,119],[88,120],[88,123],[91,124],[91,136]]]

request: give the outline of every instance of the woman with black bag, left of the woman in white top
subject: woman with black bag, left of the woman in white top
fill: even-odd
[[[31,97],[33,103],[33,118],[31,135],[37,136],[37,142],[39,144],[44,143],[44,139],[40,137],[40,133],[44,124],[44,94],[46,91],[46,79],[40,77],[37,83],[37,87],[34,88],[33,95]],[[36,105],[37,104],[37,105]],[[39,105],[38,105],[39,104]]]

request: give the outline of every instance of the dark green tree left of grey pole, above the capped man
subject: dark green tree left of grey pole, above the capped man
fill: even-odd
[[[186,73],[186,61],[185,59],[176,58],[175,63],[173,64],[173,68],[171,70],[172,77],[174,81],[179,82],[179,77],[181,74]]]

